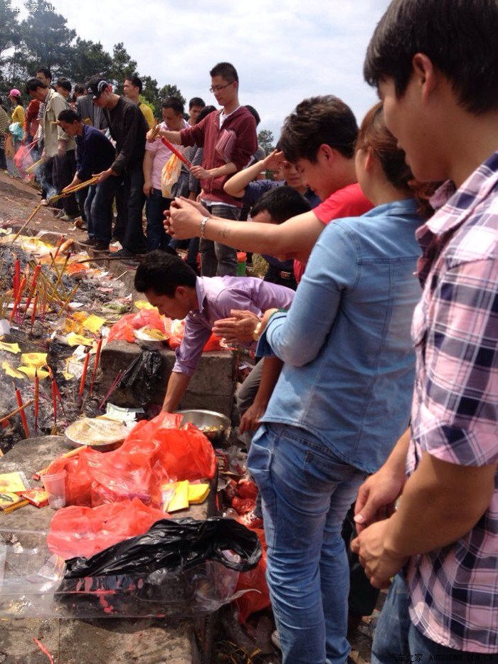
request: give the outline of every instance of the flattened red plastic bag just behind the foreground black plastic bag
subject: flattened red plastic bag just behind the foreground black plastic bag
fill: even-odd
[[[123,539],[144,534],[164,519],[162,510],[144,505],[138,498],[101,507],[63,507],[55,512],[47,536],[51,552],[66,560],[91,557]]]

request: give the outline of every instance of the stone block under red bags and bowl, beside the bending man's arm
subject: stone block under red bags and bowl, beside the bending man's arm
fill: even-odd
[[[100,356],[102,371],[100,391],[107,394],[120,369],[127,369],[129,364],[142,353],[137,344],[113,341],[107,344]],[[163,359],[161,384],[151,399],[152,404],[162,404],[166,394],[166,385],[175,362],[175,354],[169,349],[160,351]],[[179,409],[204,409],[218,411],[231,417],[233,394],[235,392],[236,356],[233,352],[203,353],[196,373],[180,402]],[[117,389],[110,398],[117,406],[136,407],[139,402],[132,389]]]

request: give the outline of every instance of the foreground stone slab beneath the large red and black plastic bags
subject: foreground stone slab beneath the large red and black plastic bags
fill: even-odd
[[[26,477],[31,478],[55,456],[69,449],[64,436],[41,436],[20,441],[0,459],[0,473],[23,470]],[[203,505],[193,505],[175,516],[205,519],[215,513],[214,501],[214,490],[211,490],[208,501]],[[48,507],[38,510],[28,505],[9,515],[0,515],[0,528],[48,531],[52,516],[53,511]],[[213,617],[206,623],[212,620]],[[194,624],[188,619],[105,618],[80,621],[2,618],[0,663],[46,662],[46,655],[33,641],[37,638],[57,664],[206,664],[210,661],[210,634],[205,621]]]

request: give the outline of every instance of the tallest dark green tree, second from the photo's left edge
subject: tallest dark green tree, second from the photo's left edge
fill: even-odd
[[[68,28],[64,16],[56,14],[51,4],[45,0],[38,2],[38,9],[30,11],[21,22],[20,34],[17,57],[26,75],[34,75],[36,68],[43,65],[51,70],[53,78],[72,78],[70,66],[76,31]]]

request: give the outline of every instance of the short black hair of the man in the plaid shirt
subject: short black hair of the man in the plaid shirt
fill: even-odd
[[[366,52],[366,82],[393,78],[402,97],[416,53],[445,75],[467,111],[498,108],[497,0],[393,0]]]

